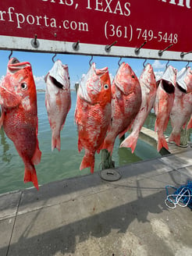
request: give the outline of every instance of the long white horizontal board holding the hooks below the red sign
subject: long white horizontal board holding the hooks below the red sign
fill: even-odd
[[[172,61],[192,62],[192,53],[180,57],[180,52],[165,51],[162,56],[158,50],[142,48],[140,55],[135,55],[135,48],[114,46],[110,52],[105,51],[105,45],[80,43],[80,51],[73,49],[74,42],[50,41],[38,39],[39,47],[34,48],[30,44],[31,38],[0,36],[0,49],[22,52],[48,52],[74,55],[100,55],[108,57],[137,58],[137,59],[162,59]]]

